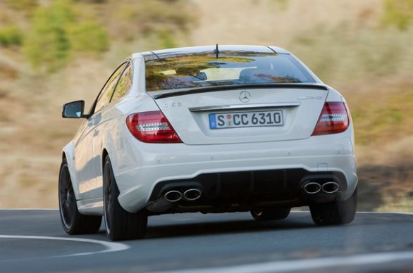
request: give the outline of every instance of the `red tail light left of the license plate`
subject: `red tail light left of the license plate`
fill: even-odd
[[[182,143],[161,111],[128,115],[126,126],[137,140],[147,143]]]

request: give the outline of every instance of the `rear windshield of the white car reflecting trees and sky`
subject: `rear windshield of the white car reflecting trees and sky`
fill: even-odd
[[[314,83],[288,54],[192,53],[146,61],[147,91],[242,84]]]

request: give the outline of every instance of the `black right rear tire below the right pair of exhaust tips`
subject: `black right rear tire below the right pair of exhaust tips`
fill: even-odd
[[[318,226],[349,224],[355,219],[357,189],[345,201],[332,201],[309,206],[314,223]]]

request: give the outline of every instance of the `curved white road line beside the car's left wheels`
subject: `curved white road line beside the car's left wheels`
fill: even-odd
[[[75,241],[82,243],[97,243],[101,246],[104,246],[104,250],[94,251],[94,252],[84,252],[84,253],[75,253],[69,255],[60,255],[53,256],[51,258],[61,258],[61,257],[73,257],[73,256],[82,256],[82,255],[92,255],[98,253],[107,253],[107,252],[116,252],[127,250],[130,246],[125,245],[124,243],[113,243],[107,241],[99,241],[92,239],[82,239],[82,238],[64,238],[64,237],[49,237],[49,236],[23,236],[23,235],[0,235],[0,239],[39,239],[39,240],[56,240],[56,241]]]

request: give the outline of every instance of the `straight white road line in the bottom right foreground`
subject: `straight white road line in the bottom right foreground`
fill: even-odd
[[[280,262],[263,262],[260,264],[237,265],[233,267],[214,267],[205,269],[187,269],[179,271],[167,271],[168,273],[267,273],[267,272],[289,272],[311,269],[322,269],[328,267],[374,265],[386,262],[397,262],[401,260],[413,260],[413,252],[393,252],[352,255],[347,257],[316,258],[307,260],[288,260]]]

